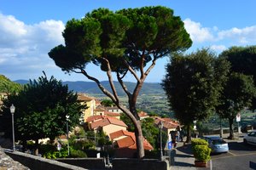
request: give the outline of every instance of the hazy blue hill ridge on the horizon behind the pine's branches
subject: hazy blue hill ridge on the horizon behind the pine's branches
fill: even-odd
[[[15,82],[20,84],[29,83],[27,80],[16,80]],[[63,82],[63,84],[67,84],[70,90],[75,92],[81,92],[85,94],[102,94],[101,90],[97,87],[96,82]],[[102,85],[110,90],[110,85],[108,81],[103,81]],[[124,91],[122,90],[119,82],[114,82],[115,87],[117,88],[117,92],[120,96],[125,95]],[[126,87],[129,90],[133,90],[136,86],[135,82],[125,82]],[[156,82],[144,82],[143,89],[141,90],[140,94],[148,95],[148,94],[165,94],[164,90],[162,89],[160,83]]]

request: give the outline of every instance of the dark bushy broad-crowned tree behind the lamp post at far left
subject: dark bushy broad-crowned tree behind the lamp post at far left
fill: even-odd
[[[5,135],[11,136],[11,115],[9,106],[15,105],[15,139],[23,141],[34,140],[38,148],[38,139],[51,140],[66,133],[66,116],[70,116],[69,129],[79,124],[81,109],[77,94],[68,91],[67,85],[62,85],[54,77],[49,80],[39,77],[24,86],[19,94],[10,94],[3,101],[3,116]],[[37,150],[38,151],[38,150]],[[36,152],[37,154],[37,152]]]

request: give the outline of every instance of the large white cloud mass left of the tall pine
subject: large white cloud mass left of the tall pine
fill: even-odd
[[[61,32],[65,26],[62,21],[45,20],[34,25],[26,25],[12,15],[0,13],[0,74],[20,78],[34,72],[60,70],[49,58],[51,48],[64,43]],[[34,78],[34,77],[28,77]],[[26,79],[28,79],[26,76]]]

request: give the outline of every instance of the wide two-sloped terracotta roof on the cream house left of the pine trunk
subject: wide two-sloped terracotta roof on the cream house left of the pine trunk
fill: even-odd
[[[113,124],[113,125],[118,125],[118,126],[121,126],[121,127],[127,127],[127,125],[125,125],[125,122],[123,121],[120,121],[119,119],[117,118],[114,118],[114,117],[108,117],[108,116],[105,116],[104,119],[100,120],[100,121],[97,121],[97,122],[92,122],[90,124],[90,127],[92,129],[96,128],[96,127],[105,127],[109,124]]]

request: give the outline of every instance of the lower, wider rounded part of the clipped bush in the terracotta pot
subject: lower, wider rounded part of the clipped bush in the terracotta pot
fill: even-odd
[[[207,145],[195,145],[193,153],[196,161],[207,162],[211,159],[211,149]]]

